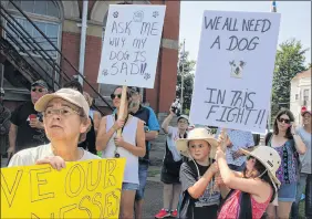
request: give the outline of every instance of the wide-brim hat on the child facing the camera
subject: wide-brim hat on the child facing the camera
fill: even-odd
[[[215,155],[218,147],[218,140],[211,135],[206,128],[194,128],[187,135],[187,138],[179,138],[176,140],[177,150],[186,156],[189,157],[188,153],[188,142],[189,140],[206,140],[210,145],[210,154],[209,157],[215,159]]]

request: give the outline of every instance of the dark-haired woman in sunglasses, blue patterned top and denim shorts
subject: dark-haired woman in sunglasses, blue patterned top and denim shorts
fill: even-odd
[[[294,117],[289,109],[278,113],[273,125],[273,133],[266,136],[266,145],[274,148],[281,158],[281,166],[277,177],[281,181],[278,194],[278,206],[268,207],[269,218],[289,218],[291,205],[295,201],[297,181],[299,177],[299,154],[306,150],[301,137],[295,133]]]

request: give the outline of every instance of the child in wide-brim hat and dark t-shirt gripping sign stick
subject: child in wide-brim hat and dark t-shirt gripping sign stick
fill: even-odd
[[[183,197],[179,218],[217,218],[220,192],[215,190],[214,176],[218,173],[215,157],[218,142],[206,128],[194,128],[186,139],[177,139],[177,149],[189,161],[180,167]]]

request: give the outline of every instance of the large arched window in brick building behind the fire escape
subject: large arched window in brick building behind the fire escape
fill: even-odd
[[[27,15],[38,25],[38,28],[59,46],[59,35],[61,31],[61,10],[59,4],[52,0],[14,0],[14,3],[27,13]],[[55,50],[50,43],[39,33],[33,25],[9,2],[8,9],[17,21],[28,31],[28,33],[40,45],[56,60],[58,55]],[[8,23],[9,25],[9,23]],[[25,48],[27,49],[27,48]],[[33,51],[29,51],[33,53]]]

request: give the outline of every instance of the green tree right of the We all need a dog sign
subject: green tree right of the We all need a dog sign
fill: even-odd
[[[297,73],[305,70],[304,53],[308,50],[294,39],[279,45],[273,73],[271,122],[280,108],[290,107],[290,82]]]

